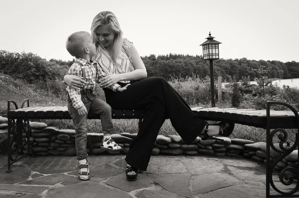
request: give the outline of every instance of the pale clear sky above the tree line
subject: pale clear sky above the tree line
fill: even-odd
[[[0,50],[72,60],[65,42],[110,10],[140,56],[202,55],[299,62],[299,0],[0,0]]]

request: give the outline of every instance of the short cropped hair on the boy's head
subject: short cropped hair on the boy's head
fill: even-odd
[[[75,57],[83,55],[85,42],[88,37],[91,37],[90,33],[86,31],[74,32],[67,37],[66,49],[67,51]]]

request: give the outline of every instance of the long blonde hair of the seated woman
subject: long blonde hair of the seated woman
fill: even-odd
[[[96,44],[99,44],[99,41],[96,39],[95,31],[100,25],[108,25],[110,30],[115,33],[111,48],[111,58],[115,61],[119,56],[123,45],[123,31],[120,23],[118,22],[116,15],[111,11],[101,11],[98,13],[94,17],[90,28],[91,36]]]

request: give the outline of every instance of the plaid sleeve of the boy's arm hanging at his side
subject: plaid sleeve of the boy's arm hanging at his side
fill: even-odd
[[[68,71],[67,74],[68,74],[68,75],[76,75],[76,76],[81,77],[81,76],[82,76],[81,73],[82,73],[82,72],[81,72],[81,67],[80,67],[80,65],[74,63],[74,64],[70,67],[70,69],[69,69],[69,71]],[[74,88],[71,88],[70,86],[67,86],[67,87],[66,87],[66,90],[67,90],[67,92],[69,93],[70,99],[72,100],[72,102],[73,102],[73,106],[74,106],[75,109],[78,109],[78,108],[80,108],[81,106],[84,105],[84,103],[83,103],[82,100],[81,100],[80,88],[76,88],[76,89],[74,89]]]

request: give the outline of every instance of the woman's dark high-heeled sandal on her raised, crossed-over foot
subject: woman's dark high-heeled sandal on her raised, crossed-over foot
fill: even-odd
[[[216,137],[211,137],[208,135],[208,128],[209,125],[211,126],[219,126],[219,134],[221,136],[228,137],[230,134],[232,134],[235,124],[234,123],[225,123],[225,122],[218,122],[218,123],[207,123],[206,128],[203,132],[203,134],[199,134],[202,140],[208,140],[208,139],[213,139],[213,140],[220,140],[224,141],[223,139],[216,138]]]

